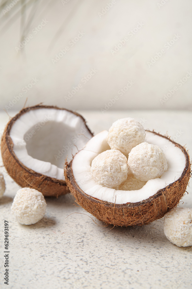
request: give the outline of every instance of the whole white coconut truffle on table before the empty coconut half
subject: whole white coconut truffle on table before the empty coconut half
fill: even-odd
[[[22,225],[31,225],[41,220],[45,214],[46,202],[41,192],[31,188],[17,191],[11,212]]]

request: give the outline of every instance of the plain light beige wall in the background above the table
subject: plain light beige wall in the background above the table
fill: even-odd
[[[190,0],[14,1],[1,6],[1,109],[26,97],[74,110],[192,109]]]

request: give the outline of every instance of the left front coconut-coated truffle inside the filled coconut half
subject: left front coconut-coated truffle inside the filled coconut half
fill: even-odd
[[[99,185],[114,188],[127,178],[127,158],[116,149],[108,149],[94,158],[91,174]]]

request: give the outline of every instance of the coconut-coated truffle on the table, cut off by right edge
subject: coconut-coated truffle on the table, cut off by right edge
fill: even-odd
[[[192,246],[192,209],[175,208],[164,217],[164,233],[178,247]]]

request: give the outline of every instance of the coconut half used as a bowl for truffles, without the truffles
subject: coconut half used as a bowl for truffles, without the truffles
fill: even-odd
[[[158,145],[167,159],[168,169],[139,190],[116,190],[98,185],[90,173],[92,160],[110,149],[107,131],[94,136],[65,166],[65,179],[76,201],[107,224],[143,225],[157,220],[174,208],[183,197],[189,178],[190,161],[184,147],[154,131],[146,131],[146,142]]]

